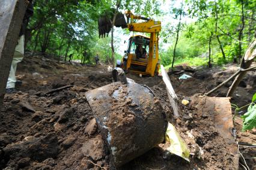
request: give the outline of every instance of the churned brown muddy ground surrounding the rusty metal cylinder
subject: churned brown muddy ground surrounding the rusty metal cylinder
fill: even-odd
[[[172,73],[169,77],[178,97],[189,99],[216,87],[236,69],[236,65],[189,68],[183,73],[193,76],[190,79],[179,80],[183,73]],[[128,77],[154,91],[168,121],[175,125],[192,154],[189,163],[166,153],[166,145],[160,144],[120,169],[237,168],[228,144],[207,114],[197,111],[194,105],[179,105],[181,117],[175,119],[160,76],[129,74]],[[107,66],[58,63],[46,56],[26,56],[18,65],[17,78],[23,83],[17,86],[17,93],[5,95],[0,112],[0,169],[111,169],[109,152],[85,97],[87,91],[112,82]],[[52,91],[60,87],[66,88]],[[227,90],[228,85],[225,85],[212,96],[224,97]],[[255,92],[256,73],[250,72],[240,83],[231,103],[246,105]],[[256,143],[256,131],[242,133],[239,117],[234,125],[239,142]],[[255,169],[256,160],[252,159],[256,155],[255,148],[246,145],[239,148],[249,168]]]

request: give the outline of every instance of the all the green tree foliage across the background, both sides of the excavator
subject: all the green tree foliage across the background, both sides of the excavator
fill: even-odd
[[[169,10],[161,11],[160,0],[93,0],[93,1],[35,1],[34,16],[31,17],[26,30],[26,48],[58,56],[59,60],[67,59],[73,53],[73,59],[81,62],[94,62],[94,56],[99,53],[101,61],[109,62],[111,55],[110,38],[98,38],[97,19],[105,11],[115,8],[120,2],[119,11],[132,10],[135,14],[152,17],[169,14],[172,19],[162,26],[160,38],[164,43],[169,43],[167,50],[160,49],[160,58],[163,65],[172,62],[177,24],[182,14],[180,36],[175,52],[175,64],[189,62],[190,65],[206,64],[209,56],[209,37],[213,32],[211,44],[211,61],[213,64],[225,64],[240,57],[254,37],[256,29],[255,14],[256,0],[243,1],[245,25],[239,43],[242,28],[242,1],[216,0],[197,1],[186,0],[183,8],[175,7],[180,1],[171,1]],[[177,6],[177,5],[176,5]],[[187,9],[188,8],[188,9]],[[216,17],[218,16],[218,17]],[[187,17],[196,18],[195,22],[186,23]],[[162,20],[166,22],[166,20]],[[177,22],[176,22],[177,23]],[[124,29],[127,32],[127,29]],[[220,44],[225,53],[222,56]],[[123,40],[114,39],[115,49]],[[161,46],[161,44],[160,44]],[[240,52],[240,46],[242,52]],[[117,50],[115,50],[117,51]],[[115,58],[120,58],[117,55]]]

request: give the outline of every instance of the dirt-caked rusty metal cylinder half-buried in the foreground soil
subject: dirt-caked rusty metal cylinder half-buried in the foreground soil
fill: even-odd
[[[153,91],[132,79],[86,93],[115,168],[165,139],[165,112]]]

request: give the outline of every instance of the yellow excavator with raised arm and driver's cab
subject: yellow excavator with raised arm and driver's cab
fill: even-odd
[[[124,15],[127,21],[124,19]],[[145,20],[145,22],[135,22],[139,19]],[[106,17],[101,17],[98,25],[99,35],[102,37],[111,31],[111,22]],[[150,37],[134,35],[129,38],[127,50],[124,51],[121,61],[117,60],[117,67],[123,68],[126,73],[131,71],[142,75],[157,75],[160,67],[158,36],[161,31],[161,22],[126,11],[124,14],[117,14],[114,25],[128,28],[133,32],[150,33]]]

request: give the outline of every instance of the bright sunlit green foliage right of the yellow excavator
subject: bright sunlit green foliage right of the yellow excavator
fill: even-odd
[[[242,1],[186,0],[185,2],[186,7],[189,8],[186,11],[187,16],[195,18],[196,21],[183,25],[184,28],[181,30],[181,40],[178,41],[178,47],[175,52],[177,55],[177,59],[175,59],[174,63],[175,65],[180,64],[182,59],[184,62],[189,61],[189,64],[192,65],[194,60],[198,60],[194,58],[201,58],[201,56],[208,57],[211,32],[213,32],[213,36],[210,56],[213,65],[227,64],[243,55],[248,43],[252,41],[256,29],[255,0],[243,1],[243,18],[245,20],[245,25],[243,26],[244,28],[241,34],[241,41],[243,43],[239,43],[238,41],[243,24]],[[177,16],[177,13],[177,9],[170,11],[170,14],[173,14],[174,16]],[[183,21],[183,23],[186,22]],[[163,37],[165,38],[165,42],[171,43],[168,50],[161,52],[161,62],[163,65],[169,65],[172,60],[172,51],[175,43],[175,35],[173,34],[175,29],[173,29],[173,27],[173,25],[169,25],[168,28],[163,28],[162,31],[164,35],[171,35],[169,37]],[[217,36],[219,37],[219,41]],[[222,46],[225,58],[222,55],[220,46]],[[242,49],[241,52],[240,46]],[[205,64],[205,62],[202,62],[202,64]],[[195,63],[195,65],[198,64]]]

